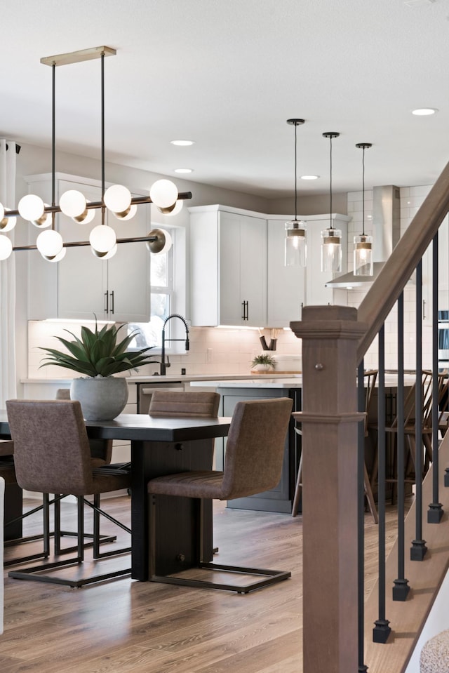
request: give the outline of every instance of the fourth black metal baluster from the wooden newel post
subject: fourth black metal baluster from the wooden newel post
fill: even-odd
[[[416,385],[415,385],[415,540],[410,547],[410,560],[422,561],[427,552],[422,539],[422,261],[416,268]]]

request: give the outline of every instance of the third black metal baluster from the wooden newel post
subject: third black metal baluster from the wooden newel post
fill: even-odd
[[[405,578],[405,526],[404,526],[404,294],[398,297],[398,427],[397,427],[397,484],[398,484],[398,576],[394,580],[393,600],[405,601],[410,591]]]

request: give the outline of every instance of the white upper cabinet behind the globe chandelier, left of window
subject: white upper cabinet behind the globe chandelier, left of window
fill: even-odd
[[[79,189],[89,201],[101,200],[100,183],[57,174],[56,199],[67,189]],[[30,178],[29,191],[51,203],[51,176]],[[140,206],[132,220],[120,221],[106,213],[107,224],[117,238],[146,236],[149,206]],[[101,210],[88,225],[79,225],[62,213],[57,227],[65,243],[88,241],[93,227],[101,223]],[[30,241],[34,243],[33,241]],[[110,260],[96,258],[91,246],[67,247],[57,264],[46,262],[37,251],[29,254],[29,319],[109,319],[123,322],[149,320],[150,253],[143,243],[120,244]]]

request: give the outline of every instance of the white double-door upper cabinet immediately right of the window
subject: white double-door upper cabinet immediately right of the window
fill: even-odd
[[[192,325],[267,324],[267,220],[225,206],[189,211]]]

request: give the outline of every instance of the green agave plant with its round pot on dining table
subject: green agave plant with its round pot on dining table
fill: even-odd
[[[128,384],[125,378],[114,374],[137,369],[152,361],[147,354],[152,346],[136,351],[126,350],[136,330],[117,343],[122,327],[105,325],[99,330],[95,319],[95,330],[81,327],[80,338],[69,330],[65,331],[72,335],[73,341],[56,337],[67,350],[41,347],[47,354],[41,367],[56,365],[81,374],[80,378],[72,380],[70,397],[80,401],[86,420],[116,418],[128,401]]]

